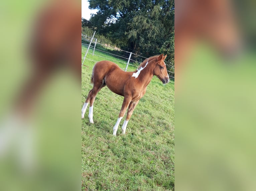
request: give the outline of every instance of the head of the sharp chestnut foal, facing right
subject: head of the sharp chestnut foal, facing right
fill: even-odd
[[[163,54],[159,55],[155,61],[155,68],[153,70],[153,75],[157,76],[159,80],[163,82],[163,84],[167,84],[169,82],[169,76],[166,70],[166,65],[164,63],[165,58],[167,55],[163,56]]]

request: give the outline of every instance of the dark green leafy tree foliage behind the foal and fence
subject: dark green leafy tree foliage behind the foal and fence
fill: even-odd
[[[90,22],[121,48],[174,61],[174,0],[89,0]],[[169,52],[171,51],[171,52]]]

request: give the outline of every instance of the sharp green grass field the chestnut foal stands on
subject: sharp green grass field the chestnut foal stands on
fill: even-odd
[[[99,51],[95,55],[87,57],[117,60]],[[127,61],[116,63],[125,68],[123,62]],[[94,64],[86,59],[84,65],[89,68],[82,67],[81,109],[92,89]],[[89,123],[89,108],[82,119],[82,190],[174,190],[174,83],[163,85],[154,77],[129,120],[126,134],[121,134],[123,119],[114,137],[122,102],[122,96],[105,87],[94,102],[94,124]]]

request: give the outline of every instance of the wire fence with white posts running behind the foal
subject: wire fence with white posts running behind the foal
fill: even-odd
[[[88,52],[88,47],[90,45],[90,50],[93,51],[93,53]],[[110,60],[115,63],[121,63],[121,64],[126,64],[126,68],[122,68],[125,71],[131,71],[128,69],[128,65],[132,66],[134,68],[137,68],[140,63],[142,63],[145,59],[151,57],[150,55],[146,55],[140,52],[133,53],[132,51],[126,51],[119,49],[118,47],[112,47],[108,44],[102,44],[97,42],[97,38],[93,38],[88,36],[88,35],[83,35],[82,34],[82,47],[87,49],[87,51],[82,49],[82,52],[85,53],[83,57],[83,63],[85,60],[93,61],[93,62],[98,62],[92,59],[92,57],[88,58],[87,54],[90,54],[92,56],[97,56],[101,57],[105,60]],[[108,58],[99,54],[95,54],[95,50],[97,50],[98,53],[104,53],[102,55],[111,55],[112,58]],[[142,56],[143,55],[143,56]],[[119,60],[115,60],[113,58],[117,58]],[[120,61],[121,60],[121,61]],[[83,65],[82,63],[82,65]],[[171,79],[174,80],[174,66],[172,63],[165,61],[166,69],[168,72],[168,75]]]

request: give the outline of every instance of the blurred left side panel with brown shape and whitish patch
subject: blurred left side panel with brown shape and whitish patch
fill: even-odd
[[[0,190],[80,190],[81,2],[1,4]]]

